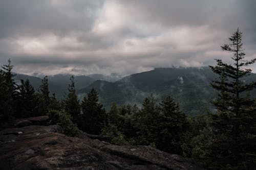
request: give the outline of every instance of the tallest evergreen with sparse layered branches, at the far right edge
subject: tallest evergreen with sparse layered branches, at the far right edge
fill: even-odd
[[[256,59],[244,60],[239,29],[229,40],[230,43],[221,48],[233,53],[234,63],[227,64],[218,59],[216,66],[210,66],[219,75],[219,80],[210,84],[219,91],[218,98],[212,101],[217,113],[211,114],[208,127],[198,137],[194,155],[215,169],[254,169],[256,107],[255,100],[246,93],[256,87],[256,82],[244,82],[243,78],[251,72],[246,66]]]

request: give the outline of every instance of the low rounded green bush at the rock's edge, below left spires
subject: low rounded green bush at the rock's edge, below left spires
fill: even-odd
[[[59,125],[68,136],[76,136],[78,128],[76,124],[72,123],[72,117],[64,110],[49,110],[50,124]]]

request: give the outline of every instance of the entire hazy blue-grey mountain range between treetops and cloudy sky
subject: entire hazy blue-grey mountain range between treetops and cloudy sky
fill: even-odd
[[[70,77],[69,74],[49,76],[50,92],[55,93],[58,99],[63,99]],[[37,77],[17,74],[15,81],[27,78],[35,89],[39,88],[41,79]],[[95,88],[99,93],[100,102],[106,109],[109,109],[113,103],[140,106],[143,99],[151,94],[157,102],[160,102],[170,94],[186,114],[194,115],[212,109],[210,100],[217,94],[209,83],[216,78],[214,72],[208,67],[155,68],[117,81],[114,81],[115,79],[111,76],[98,74],[75,76],[75,86],[80,100]],[[246,82],[255,80],[256,74],[251,74],[244,79]],[[251,95],[255,96],[255,91],[252,91]]]

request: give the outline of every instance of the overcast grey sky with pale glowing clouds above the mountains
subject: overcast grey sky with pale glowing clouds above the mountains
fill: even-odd
[[[239,27],[256,57],[255,0],[0,0],[0,64],[33,75],[129,75],[230,61]],[[256,72],[256,66],[253,68]]]

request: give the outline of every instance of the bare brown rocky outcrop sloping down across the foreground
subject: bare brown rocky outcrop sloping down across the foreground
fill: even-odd
[[[201,169],[179,155],[142,145],[113,145],[58,125],[0,131],[1,169]]]

